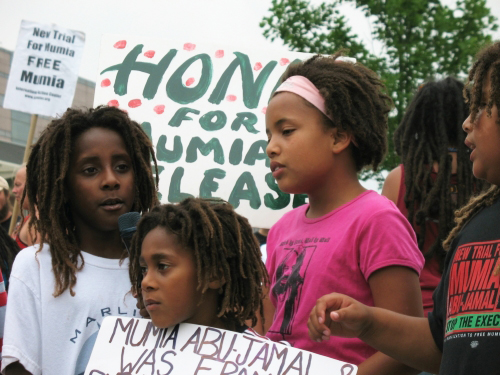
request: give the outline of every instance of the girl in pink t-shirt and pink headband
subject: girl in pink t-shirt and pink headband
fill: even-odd
[[[267,336],[359,365],[359,374],[404,373],[359,339],[320,345],[307,336],[316,300],[333,291],[421,316],[424,259],[408,221],[358,172],[377,168],[387,148],[390,98],[371,70],[314,56],[291,65],[266,112],[267,154],[279,188],[309,204],[271,228],[267,269],[274,319]],[[413,371],[413,370],[411,370]]]

